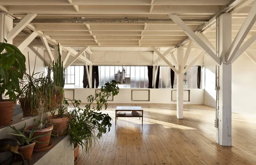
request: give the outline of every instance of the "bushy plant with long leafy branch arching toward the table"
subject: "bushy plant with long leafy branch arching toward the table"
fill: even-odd
[[[119,93],[119,87],[116,81],[106,83],[101,87],[101,91],[94,96],[87,97],[89,104],[85,109],[80,107],[80,100],[71,101],[73,107],[69,111],[70,126],[68,135],[70,136],[70,145],[74,145],[74,158],[78,153],[79,145],[82,149],[88,151],[96,139],[100,139],[103,133],[107,133],[111,128],[111,117],[108,114],[99,112],[102,107],[105,110],[108,107],[107,100]],[[96,107],[92,106],[96,102]]]

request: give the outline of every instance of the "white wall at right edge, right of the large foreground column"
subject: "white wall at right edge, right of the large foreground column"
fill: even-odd
[[[255,55],[256,49],[247,49]],[[232,111],[256,114],[256,64],[242,54],[232,64]]]

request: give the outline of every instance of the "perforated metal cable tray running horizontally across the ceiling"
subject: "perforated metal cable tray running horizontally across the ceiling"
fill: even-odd
[[[207,19],[182,19],[188,24],[201,24]],[[13,20],[13,23],[19,23],[21,19]],[[37,18],[33,19],[30,23],[163,23],[175,24],[172,19],[164,18]]]

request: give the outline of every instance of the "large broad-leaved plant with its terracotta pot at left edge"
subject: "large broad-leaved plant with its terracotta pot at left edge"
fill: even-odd
[[[19,79],[26,72],[25,62],[25,56],[16,46],[7,41],[0,43],[0,126],[12,122],[16,100],[21,93]],[[9,99],[3,99],[3,94]]]

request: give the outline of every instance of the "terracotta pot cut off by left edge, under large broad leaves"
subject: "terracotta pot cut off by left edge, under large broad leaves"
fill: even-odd
[[[0,101],[0,126],[9,124],[12,121],[12,115],[16,102],[4,100]]]

